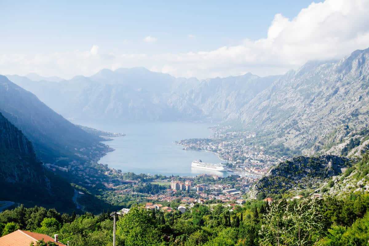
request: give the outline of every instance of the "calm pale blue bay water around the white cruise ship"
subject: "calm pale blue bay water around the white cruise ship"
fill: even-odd
[[[183,150],[175,141],[188,138],[207,138],[212,135],[210,124],[189,122],[120,122],[120,121],[72,121],[108,132],[124,133],[126,136],[106,141],[115,151],[107,153],[99,163],[108,164],[114,169],[136,174],[162,174],[196,176],[197,174],[228,173],[195,169],[193,160],[203,162],[222,162],[214,153]]]

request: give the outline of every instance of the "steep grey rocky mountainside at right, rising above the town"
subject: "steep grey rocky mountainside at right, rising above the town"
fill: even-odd
[[[369,49],[333,62],[309,62],[276,80],[239,114],[250,129],[312,154],[368,127]]]

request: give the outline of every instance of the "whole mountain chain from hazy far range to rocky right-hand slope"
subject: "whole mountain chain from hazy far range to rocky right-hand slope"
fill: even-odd
[[[103,69],[59,83],[13,79],[64,117],[242,124],[309,154],[368,126],[368,53],[308,62],[269,77],[198,80],[134,68]]]

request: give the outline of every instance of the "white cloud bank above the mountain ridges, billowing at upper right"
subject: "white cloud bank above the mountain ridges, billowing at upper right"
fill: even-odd
[[[281,74],[312,59],[339,59],[369,46],[369,0],[326,0],[312,3],[289,19],[276,14],[266,38],[245,39],[235,46],[187,53],[101,54],[94,45],[89,51],[35,55],[0,55],[2,73],[43,76],[92,75],[102,68],[144,66],[174,76],[199,78]],[[188,38],[190,38],[188,36]],[[146,42],[155,42],[151,36]]]

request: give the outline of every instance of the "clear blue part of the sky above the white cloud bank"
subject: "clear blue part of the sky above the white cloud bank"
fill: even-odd
[[[266,37],[277,13],[294,17],[311,1],[29,1],[2,4],[1,52],[187,52]],[[6,35],[4,35],[6,34]],[[151,35],[161,42],[144,45]],[[195,35],[191,39],[187,35]],[[25,42],[27,41],[27,42]]]

